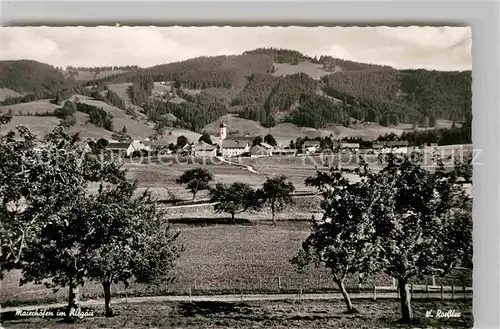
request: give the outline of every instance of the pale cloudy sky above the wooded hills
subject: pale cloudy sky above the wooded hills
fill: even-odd
[[[468,27],[0,27],[0,60],[147,67],[260,47],[398,69],[471,70]]]

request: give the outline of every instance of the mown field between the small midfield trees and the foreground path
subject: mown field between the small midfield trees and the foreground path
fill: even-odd
[[[175,215],[176,213],[170,214],[172,217]],[[304,292],[336,289],[329,272],[324,268],[311,266],[303,273],[297,273],[288,261],[308,236],[308,222],[278,222],[276,226],[272,226],[269,221],[246,225],[174,224],[174,228],[180,230],[179,239],[185,246],[175,268],[176,281],[170,286],[149,287],[132,283],[128,289],[121,284],[113,285],[113,295],[187,294],[189,288],[193,293],[205,294],[237,293],[240,289],[271,293],[297,292],[300,288]],[[454,283],[458,287],[462,285],[462,275],[465,284],[470,286],[470,273],[459,271],[449,277],[436,277],[436,283]],[[66,289],[54,293],[41,285],[19,286],[19,278],[20,273],[13,271],[7,273],[2,280],[2,304],[12,303],[13,300],[60,302],[66,297]],[[414,278],[413,282],[431,284],[431,279]],[[378,286],[391,285],[392,279],[380,273],[367,278],[364,284],[369,288],[374,283]],[[350,289],[357,288],[357,285],[357,277],[348,279]],[[88,282],[81,292],[84,298],[95,298],[102,296],[102,287]]]

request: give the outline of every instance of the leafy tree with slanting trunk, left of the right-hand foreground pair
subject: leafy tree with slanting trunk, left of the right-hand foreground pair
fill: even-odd
[[[309,263],[322,263],[339,287],[348,313],[355,313],[345,287],[349,274],[368,275],[377,269],[374,224],[367,216],[372,193],[365,182],[350,182],[340,170],[318,171],[306,184],[318,188],[323,218],[312,222],[312,232],[302,249],[290,260],[299,271]],[[364,277],[363,276],[363,277]]]

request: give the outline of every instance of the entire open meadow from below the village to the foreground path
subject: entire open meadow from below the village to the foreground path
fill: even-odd
[[[242,158],[243,159],[243,158]],[[305,158],[306,159],[306,158]],[[243,161],[243,160],[242,160]],[[313,192],[305,186],[304,179],[314,175],[316,161],[301,157],[247,158],[258,169],[251,173],[245,168],[226,163],[204,165],[214,174],[215,182],[246,182],[259,187],[266,177],[285,174],[294,183],[297,191]],[[302,162],[305,161],[305,162]],[[150,189],[159,199],[168,200],[174,195],[178,199],[191,200],[192,195],[175,179],[189,168],[201,166],[196,161],[183,163],[128,163],[128,175],[139,182],[141,190]],[[318,167],[318,169],[327,169]],[[354,176],[352,177],[354,179]],[[206,199],[207,193],[199,193],[197,199]],[[298,289],[323,291],[336,289],[330,273],[322,267],[310,266],[303,273],[289,263],[289,259],[300,249],[308,236],[314,216],[321,216],[318,196],[295,199],[295,203],[278,213],[278,224],[273,226],[270,211],[246,212],[236,216],[231,224],[228,214],[218,214],[212,205],[201,204],[187,207],[165,208],[166,219],[173,228],[180,231],[180,242],[185,251],[175,267],[176,280],[171,285],[146,286],[132,283],[127,289],[121,284],[112,286],[114,296],[162,295],[193,293],[233,293],[240,290],[259,292],[280,292]],[[165,206],[167,207],[167,206]],[[63,301],[66,289],[54,293],[42,285],[19,286],[20,273],[7,273],[1,281],[0,303],[8,305],[17,301]],[[455,284],[457,287],[471,286],[471,273],[455,271],[452,275],[439,278],[436,284]],[[431,284],[431,278],[414,278],[414,283]],[[359,279],[348,279],[349,289],[358,288]],[[384,273],[368,277],[363,287],[392,285],[392,278]],[[98,283],[88,282],[81,290],[84,298],[102,296]]]

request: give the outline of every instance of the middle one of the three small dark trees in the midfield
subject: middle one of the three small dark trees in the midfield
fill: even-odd
[[[231,185],[217,183],[215,188],[210,190],[211,202],[216,202],[214,210],[217,213],[225,212],[231,214],[234,223],[234,216],[249,209],[258,210],[262,206],[259,202],[256,191],[250,185],[235,182]]]

